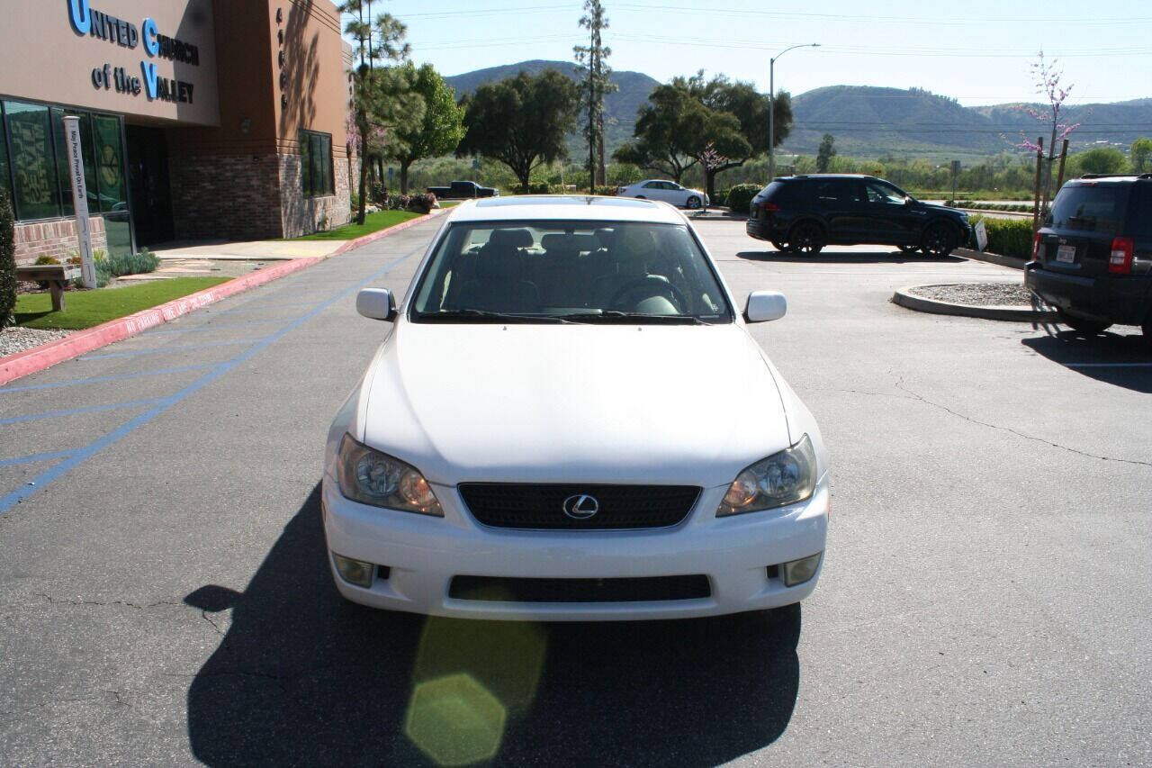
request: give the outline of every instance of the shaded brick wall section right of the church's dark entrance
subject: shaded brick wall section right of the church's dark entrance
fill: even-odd
[[[265,155],[170,155],[177,240],[282,238],[280,160]]]

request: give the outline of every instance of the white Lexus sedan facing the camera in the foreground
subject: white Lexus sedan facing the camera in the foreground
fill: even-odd
[[[684,216],[614,197],[450,212],[328,434],[340,593],[485,619],[764,610],[816,587],[831,506],[812,415]]]

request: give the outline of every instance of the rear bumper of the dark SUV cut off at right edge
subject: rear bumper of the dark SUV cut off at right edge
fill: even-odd
[[[1152,311],[1152,277],[1146,274],[1081,277],[1029,262],[1024,285],[1053,307],[1087,319],[1139,325]]]

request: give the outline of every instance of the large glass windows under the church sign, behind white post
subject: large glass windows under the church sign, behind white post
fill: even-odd
[[[123,130],[120,118],[60,106],[3,101],[0,110],[0,187],[12,193],[17,221],[73,216],[63,118],[79,118],[89,214],[116,213],[127,223]]]

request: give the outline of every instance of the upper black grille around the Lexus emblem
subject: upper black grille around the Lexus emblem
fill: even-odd
[[[472,515],[499,528],[665,528],[683,520],[696,504],[695,485],[579,485],[536,483],[461,483],[460,495]],[[599,510],[577,520],[564,514],[564,500],[588,495]]]

